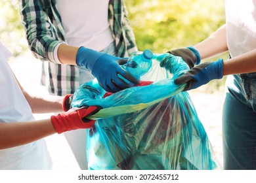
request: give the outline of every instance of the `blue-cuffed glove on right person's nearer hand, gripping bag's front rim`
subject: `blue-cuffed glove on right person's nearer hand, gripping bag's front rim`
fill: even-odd
[[[187,91],[207,84],[210,80],[221,78],[223,78],[223,59],[196,65],[188,73],[175,79],[174,82],[177,85],[186,83],[183,91]]]

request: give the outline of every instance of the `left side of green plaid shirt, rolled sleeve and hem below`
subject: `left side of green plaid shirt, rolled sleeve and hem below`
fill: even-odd
[[[20,0],[20,14],[30,50],[35,58],[43,61],[41,84],[54,95],[74,93],[79,87],[78,68],[58,64],[54,59],[56,46],[64,42],[56,0]]]

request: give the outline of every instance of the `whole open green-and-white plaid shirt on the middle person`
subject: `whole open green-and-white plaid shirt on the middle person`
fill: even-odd
[[[79,87],[78,67],[60,65],[53,57],[55,46],[65,41],[56,0],[22,0],[20,13],[30,50],[43,61],[42,84],[54,95],[74,93]],[[110,0],[108,21],[115,39],[117,56],[127,57],[136,52],[135,36],[122,0]]]

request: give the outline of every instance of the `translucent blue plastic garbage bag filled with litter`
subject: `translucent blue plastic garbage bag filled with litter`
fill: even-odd
[[[220,169],[190,96],[174,83],[188,65],[152,54],[131,56],[121,67],[140,80],[137,86],[109,93],[95,79],[74,93],[72,107],[102,107],[87,117],[96,120],[87,130],[89,169]]]

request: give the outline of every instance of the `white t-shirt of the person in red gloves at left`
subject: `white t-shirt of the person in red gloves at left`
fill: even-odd
[[[35,120],[7,58],[11,52],[0,41],[0,122],[28,122]],[[0,135],[1,138],[1,135]],[[0,150],[0,169],[51,169],[52,161],[44,140]]]

